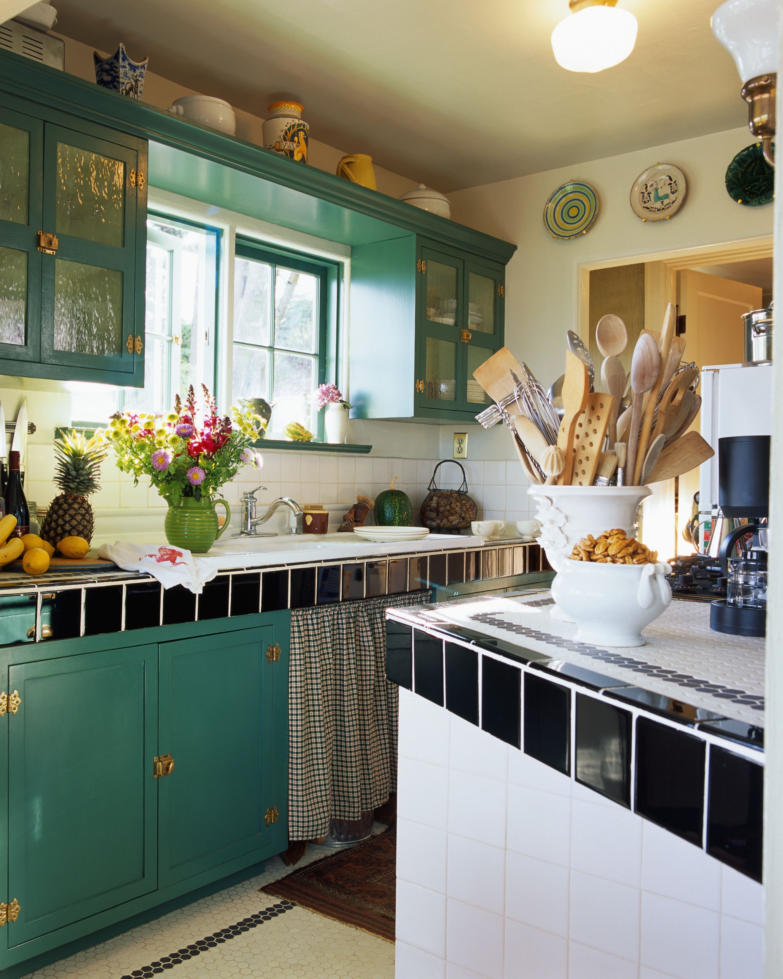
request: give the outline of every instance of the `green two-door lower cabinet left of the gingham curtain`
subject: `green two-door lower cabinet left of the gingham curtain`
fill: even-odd
[[[2,979],[286,849],[289,623],[0,648]]]

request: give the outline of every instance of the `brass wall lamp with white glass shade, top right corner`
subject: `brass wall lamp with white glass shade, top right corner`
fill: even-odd
[[[780,60],[780,0],[726,0],[713,14],[713,33],[734,59],[749,104],[748,125],[761,140],[764,160],[775,165],[775,94]]]

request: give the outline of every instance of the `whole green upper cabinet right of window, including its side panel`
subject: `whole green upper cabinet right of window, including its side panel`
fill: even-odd
[[[503,346],[505,264],[419,236],[351,253],[352,417],[472,422]],[[380,369],[379,369],[380,368]]]

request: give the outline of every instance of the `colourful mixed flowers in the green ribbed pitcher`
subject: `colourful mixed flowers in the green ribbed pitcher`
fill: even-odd
[[[258,439],[261,418],[233,409],[233,421],[220,417],[217,403],[204,389],[204,404],[196,404],[191,385],[184,404],[177,395],[167,415],[116,412],[106,440],[114,446],[116,464],[136,484],[146,473],[169,503],[182,496],[211,497],[230,482],[246,463],[257,468],[251,445]]]

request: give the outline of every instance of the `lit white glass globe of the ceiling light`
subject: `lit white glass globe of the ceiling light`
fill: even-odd
[[[636,18],[619,7],[585,7],[552,31],[555,61],[569,71],[603,71],[620,65],[636,43]]]

